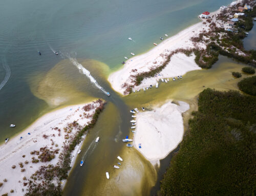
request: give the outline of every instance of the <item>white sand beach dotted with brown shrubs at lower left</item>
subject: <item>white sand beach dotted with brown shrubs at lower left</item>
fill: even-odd
[[[48,113],[36,120],[22,133],[10,138],[6,144],[0,146],[0,182],[3,183],[3,186],[0,187],[1,194],[6,192],[12,195],[25,194],[26,183],[31,180],[31,175],[40,166],[55,165],[59,161],[58,155],[62,151],[63,142],[92,120],[92,115],[99,103],[92,103],[91,110],[87,112],[82,108],[84,105],[89,104],[72,105]],[[78,124],[72,126],[71,133],[68,133],[65,129],[70,127],[74,121]],[[20,139],[21,137],[22,139]],[[39,151],[41,147],[46,146],[51,150],[59,149],[59,153],[50,162],[32,163],[32,157],[38,158],[36,154],[31,155],[31,152]],[[78,149],[79,146],[76,146],[73,151],[73,163]],[[28,163],[26,164],[25,161],[28,161]],[[19,163],[23,163],[22,168]],[[16,166],[14,169],[12,168],[13,165]],[[22,172],[22,169],[25,169],[25,171]],[[4,182],[4,179],[7,179],[7,182]],[[11,189],[14,190],[13,193],[10,193]]]

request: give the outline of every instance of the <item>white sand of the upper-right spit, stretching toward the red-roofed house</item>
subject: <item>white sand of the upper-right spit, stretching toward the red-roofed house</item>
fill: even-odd
[[[218,13],[220,13],[220,10],[210,13],[209,16],[211,16],[212,21],[216,22],[217,26],[220,26],[221,24],[218,23],[216,17],[213,17]],[[203,24],[204,21],[206,21],[206,19],[202,19],[201,22],[184,29],[172,37],[164,37],[166,39],[149,52],[127,60],[122,69],[109,76],[108,80],[112,88],[120,94],[124,94],[125,86],[134,84],[133,76],[160,66],[166,60],[166,56],[177,49],[193,49],[196,47],[205,49],[205,45],[201,43],[195,45],[195,43],[190,40],[191,37],[198,36],[202,31],[207,32],[210,30],[209,23]],[[141,89],[150,84],[155,85],[157,78],[172,78],[184,75],[189,71],[200,69],[201,68],[195,62],[195,55],[188,57],[185,54],[177,53],[171,57],[170,62],[156,77],[145,78],[142,83],[139,86],[135,86],[134,89]]]

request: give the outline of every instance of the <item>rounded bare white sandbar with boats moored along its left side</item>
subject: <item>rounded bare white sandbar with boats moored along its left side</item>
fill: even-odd
[[[137,115],[134,145],[147,160],[156,162],[165,158],[182,141],[182,113],[189,109],[189,104],[178,103],[168,101],[153,111]]]

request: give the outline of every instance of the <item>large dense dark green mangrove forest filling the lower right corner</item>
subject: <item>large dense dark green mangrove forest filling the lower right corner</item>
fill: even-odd
[[[158,195],[254,195],[256,97],[206,89]]]

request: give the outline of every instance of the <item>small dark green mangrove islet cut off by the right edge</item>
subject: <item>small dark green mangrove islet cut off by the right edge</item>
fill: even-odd
[[[256,96],[256,76],[244,78],[238,82],[238,87],[240,91],[243,91],[249,95]]]

